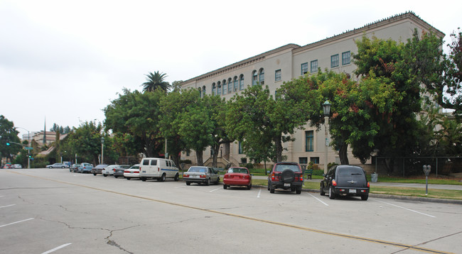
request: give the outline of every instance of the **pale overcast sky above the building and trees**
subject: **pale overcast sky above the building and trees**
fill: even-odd
[[[0,0],[0,115],[21,134],[42,131],[45,118],[47,131],[102,122],[149,72],[186,80],[406,11],[448,42],[461,10],[462,1]]]

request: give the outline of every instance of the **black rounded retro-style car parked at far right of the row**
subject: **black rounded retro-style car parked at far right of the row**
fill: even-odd
[[[341,196],[356,196],[362,200],[369,198],[369,182],[362,167],[352,165],[335,165],[327,174],[323,174],[319,192],[329,194],[330,199]]]

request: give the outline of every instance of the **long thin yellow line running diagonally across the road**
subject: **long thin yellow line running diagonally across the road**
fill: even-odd
[[[319,230],[319,229],[315,229],[315,228],[306,228],[306,227],[303,227],[303,226],[296,226],[296,225],[291,225],[291,224],[288,224],[288,223],[281,223],[281,222],[276,222],[276,221],[268,221],[268,220],[264,220],[264,219],[257,219],[257,218],[253,218],[253,217],[249,217],[249,216],[243,216],[243,215],[239,215],[239,214],[230,214],[230,213],[226,213],[226,212],[223,212],[223,211],[215,211],[215,210],[204,209],[204,208],[200,208],[200,207],[196,207],[196,206],[188,206],[186,204],[173,203],[173,202],[170,202],[170,201],[164,201],[164,200],[160,200],[160,199],[151,199],[149,197],[141,197],[141,196],[136,196],[136,195],[132,195],[132,194],[126,194],[126,193],[122,193],[122,192],[114,192],[114,191],[111,191],[111,190],[108,190],[108,189],[100,189],[100,188],[90,187],[90,186],[86,186],[86,185],[82,185],[82,184],[74,184],[72,182],[63,182],[63,181],[53,180],[53,179],[49,179],[49,178],[45,178],[45,177],[38,177],[38,176],[34,176],[34,175],[26,175],[26,174],[23,174],[21,172],[14,172],[14,171],[9,171],[9,170],[8,170],[8,172],[12,172],[12,173],[15,173],[15,174],[18,174],[18,175],[25,175],[25,176],[28,176],[28,177],[36,177],[36,178],[39,178],[39,179],[42,179],[42,180],[49,180],[49,181],[52,181],[52,182],[60,182],[62,184],[70,184],[70,185],[74,185],[74,186],[78,186],[78,187],[84,187],[84,188],[87,188],[87,189],[95,189],[95,190],[98,190],[98,191],[101,191],[101,192],[109,192],[109,193],[112,193],[112,194],[119,194],[119,195],[123,195],[123,196],[126,196],[126,197],[134,197],[136,199],[145,199],[145,200],[149,200],[149,201],[155,201],[155,202],[158,202],[158,203],[170,204],[172,206],[179,206],[179,207],[188,208],[188,209],[195,209],[195,210],[198,210],[198,211],[207,211],[207,212],[214,213],[214,214],[232,216],[232,217],[241,218],[241,219],[247,219],[247,220],[251,220],[251,221],[259,221],[259,222],[269,223],[269,224],[277,225],[277,226],[285,226],[285,227],[289,227],[289,228],[296,228],[296,229],[299,229],[299,230],[310,231],[310,232],[314,232],[314,233],[323,233],[323,234],[330,235],[330,236],[340,236],[340,237],[343,237],[343,238],[350,238],[350,239],[355,239],[355,240],[360,240],[360,241],[366,241],[366,242],[369,242],[369,243],[380,243],[380,244],[383,244],[383,245],[392,245],[392,246],[396,246],[396,247],[403,248],[403,249],[419,250],[421,252],[426,252],[426,253],[453,254],[453,253],[448,253],[448,252],[445,252],[445,251],[442,251],[442,250],[432,250],[432,249],[429,249],[429,248],[423,248],[423,247],[419,247],[419,246],[416,246],[416,245],[407,245],[407,244],[404,244],[404,243],[394,243],[394,242],[390,242],[390,241],[377,240],[377,239],[373,239],[373,238],[365,238],[365,237],[362,237],[362,236],[352,236],[352,235],[347,235],[347,234],[343,234],[343,233],[333,233],[333,232],[323,231],[323,230]]]

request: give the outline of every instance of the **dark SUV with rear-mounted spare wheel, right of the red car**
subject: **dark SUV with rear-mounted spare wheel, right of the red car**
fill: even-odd
[[[303,186],[303,173],[299,163],[278,162],[274,164],[268,177],[268,190],[274,193],[274,189],[290,189],[291,192],[301,194]]]

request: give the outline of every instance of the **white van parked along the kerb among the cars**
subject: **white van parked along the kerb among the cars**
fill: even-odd
[[[178,181],[178,167],[173,160],[161,158],[143,158],[139,166],[139,177],[144,182],[148,178],[158,181],[165,181],[166,178],[173,178]]]

